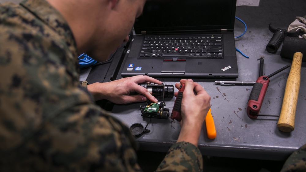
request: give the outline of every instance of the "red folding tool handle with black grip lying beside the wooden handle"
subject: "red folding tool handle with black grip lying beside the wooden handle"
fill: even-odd
[[[263,99],[265,98],[270,79],[266,76],[258,77],[254,84],[247,107],[248,117],[255,119],[259,114]]]

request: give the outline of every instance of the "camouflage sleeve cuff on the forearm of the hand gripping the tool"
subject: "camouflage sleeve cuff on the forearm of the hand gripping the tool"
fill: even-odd
[[[175,143],[170,147],[156,171],[203,171],[202,154],[200,150],[191,143]]]

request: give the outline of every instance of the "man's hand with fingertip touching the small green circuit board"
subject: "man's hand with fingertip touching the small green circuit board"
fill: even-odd
[[[148,90],[138,84],[140,83],[162,84],[161,81],[145,75],[121,78],[104,83],[93,83],[87,86],[87,89],[93,95],[94,99],[107,99],[113,103],[124,104],[132,102],[144,102],[147,99],[157,102],[157,99],[151,95]],[[137,95],[130,95],[136,92]]]

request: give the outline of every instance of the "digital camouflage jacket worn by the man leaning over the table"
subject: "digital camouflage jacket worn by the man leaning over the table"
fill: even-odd
[[[80,89],[76,43],[44,0],[0,5],[0,171],[141,171],[127,126]],[[158,171],[201,171],[174,144]]]

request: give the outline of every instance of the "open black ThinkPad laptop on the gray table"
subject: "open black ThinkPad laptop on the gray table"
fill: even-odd
[[[147,0],[122,77],[238,77],[236,0]]]

